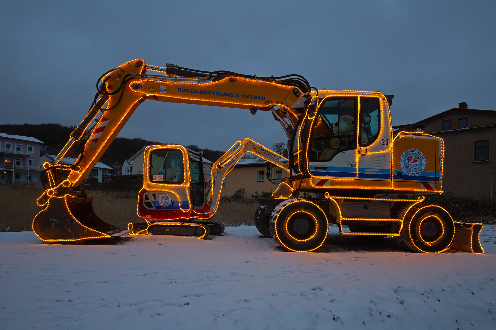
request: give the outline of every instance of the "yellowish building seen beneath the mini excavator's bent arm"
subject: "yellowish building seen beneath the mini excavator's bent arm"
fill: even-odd
[[[224,180],[221,195],[230,196],[235,193],[244,193],[250,198],[252,194],[253,196],[260,196],[262,191],[273,192],[277,189],[281,179],[288,174],[285,169],[274,165],[271,178],[273,182],[271,182],[267,179],[266,172],[266,160],[251,153],[246,153]]]

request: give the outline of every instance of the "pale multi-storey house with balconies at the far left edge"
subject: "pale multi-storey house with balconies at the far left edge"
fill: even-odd
[[[31,137],[0,133],[0,183],[39,184],[42,143]]]

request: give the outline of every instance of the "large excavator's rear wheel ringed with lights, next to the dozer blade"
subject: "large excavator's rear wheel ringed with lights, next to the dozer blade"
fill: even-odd
[[[437,205],[414,206],[405,217],[398,244],[416,252],[442,252],[451,244],[455,224],[449,213]]]

